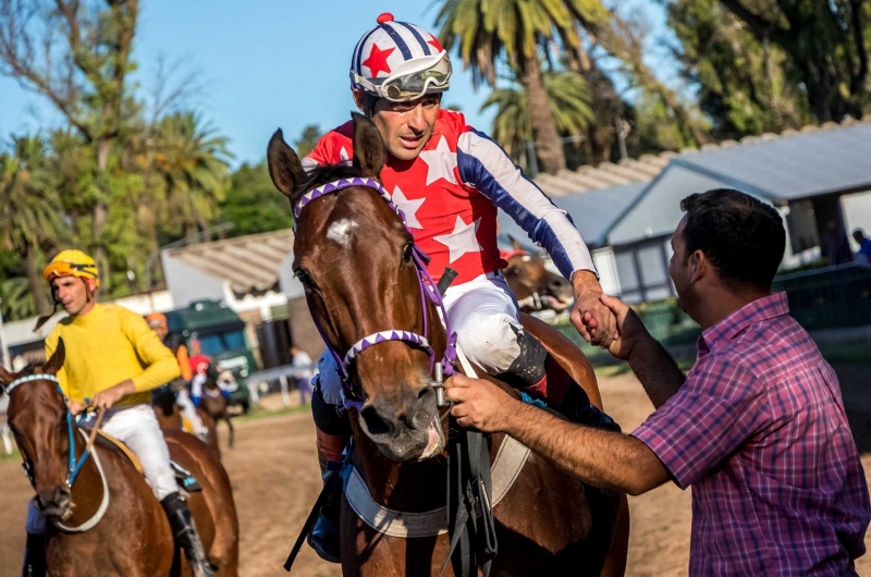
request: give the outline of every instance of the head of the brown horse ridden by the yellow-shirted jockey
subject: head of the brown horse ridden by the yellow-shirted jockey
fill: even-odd
[[[53,379],[63,366],[63,340],[41,366],[11,373],[0,367],[0,386],[9,394],[7,419],[36,491],[36,506],[46,517],[62,520],[72,514],[66,484],[70,437],[66,403]],[[40,375],[49,378],[39,378]],[[32,380],[22,381],[22,378]],[[16,384],[17,383],[17,384]],[[11,386],[10,386],[11,385]]]

